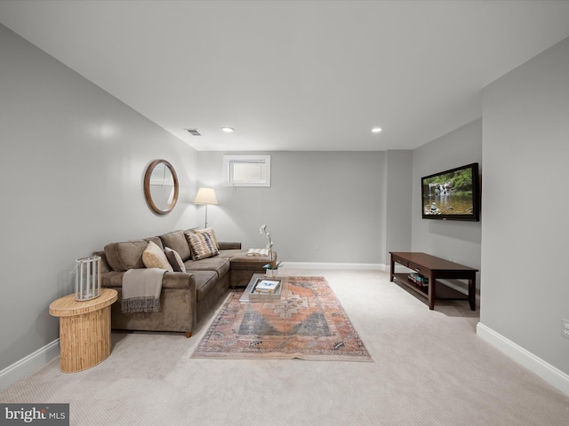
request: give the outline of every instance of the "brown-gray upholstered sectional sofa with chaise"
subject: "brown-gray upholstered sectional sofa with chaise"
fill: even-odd
[[[226,295],[228,287],[243,287],[253,273],[264,270],[268,256],[246,256],[238,242],[219,242],[219,254],[193,260],[186,231],[174,231],[134,241],[113,242],[93,255],[101,257],[101,286],[115,288],[118,302],[111,307],[111,327],[117,330],[184,332],[189,337],[196,325]],[[172,248],[181,257],[186,272],[165,272],[159,312],[123,313],[121,297],[124,272],[145,268],[142,260],[148,242]],[[276,262],[276,252],[273,252]]]

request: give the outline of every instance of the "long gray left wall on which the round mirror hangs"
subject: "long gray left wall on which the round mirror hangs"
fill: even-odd
[[[0,26],[0,370],[59,337],[49,304],[75,259],[196,222],[196,152]],[[180,200],[154,215],[144,170],[164,158]]]

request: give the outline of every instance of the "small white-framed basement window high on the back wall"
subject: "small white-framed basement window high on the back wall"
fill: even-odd
[[[270,186],[270,155],[223,155],[227,186]]]

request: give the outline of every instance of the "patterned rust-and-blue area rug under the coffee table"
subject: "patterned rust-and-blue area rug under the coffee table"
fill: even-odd
[[[289,277],[281,298],[231,292],[191,358],[373,361],[323,277]]]

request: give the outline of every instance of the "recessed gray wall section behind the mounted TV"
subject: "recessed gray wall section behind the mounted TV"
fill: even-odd
[[[413,251],[424,251],[482,271],[480,252],[485,214],[481,214],[480,222],[421,218],[421,177],[471,162],[477,162],[479,172],[485,176],[482,167],[482,119],[413,151],[412,247]],[[482,207],[483,213],[485,207]],[[480,280],[477,280],[478,288],[480,284]]]

